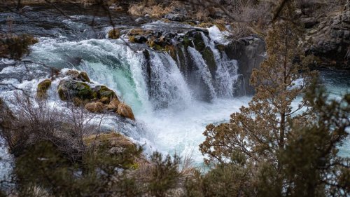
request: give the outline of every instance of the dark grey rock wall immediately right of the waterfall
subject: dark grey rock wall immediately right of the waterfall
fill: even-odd
[[[259,68],[262,61],[265,60],[265,52],[265,41],[258,36],[241,38],[225,46],[225,53],[228,57],[238,61],[238,74],[242,75],[238,83],[244,90],[237,91],[238,95],[254,93],[254,88],[249,85],[249,79],[253,69]]]

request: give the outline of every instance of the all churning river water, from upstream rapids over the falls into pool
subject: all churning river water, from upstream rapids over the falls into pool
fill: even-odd
[[[61,16],[48,15],[51,23],[57,18],[62,20]],[[193,79],[195,82],[189,83],[170,55],[153,50],[150,50],[151,79],[147,79],[146,59],[141,49],[125,44],[123,39],[103,39],[111,27],[101,26],[98,32],[94,32],[86,22],[78,22],[78,18],[85,18],[87,22],[91,20],[88,15],[74,15],[72,19],[62,20],[58,26],[49,22],[52,26],[42,27],[41,30],[38,29],[38,22],[34,24],[29,21],[26,27],[40,41],[31,47],[31,55],[26,60],[59,69],[86,71],[94,83],[105,84],[116,90],[134,110],[136,122],[107,117],[104,121],[106,128],[132,137],[139,144],[144,144],[146,150],[157,149],[180,156],[192,154],[195,163],[202,165],[198,145],[204,140],[202,133],[205,126],[228,121],[232,112],[238,111],[251,99],[248,95],[233,95],[238,65],[237,61],[219,55],[213,47],[218,32],[209,29],[209,36],[202,35],[218,65],[214,77],[202,55],[195,48],[188,47],[190,58],[197,68],[196,79]],[[98,20],[108,24],[104,18]],[[4,27],[3,22],[1,24]],[[165,25],[156,22],[148,26],[151,28],[157,24]],[[50,76],[50,71],[40,64],[28,63],[14,67],[11,63],[10,60],[1,60],[0,82],[24,88],[32,94],[36,93],[38,82]],[[332,97],[341,97],[349,92],[349,73],[321,71],[321,79]],[[55,92],[58,83],[59,79],[53,81],[48,100],[63,107]],[[206,90],[202,90],[202,86]],[[10,94],[10,90],[5,88],[0,88],[0,91],[1,95]],[[207,91],[204,95],[211,97],[210,102],[201,97],[200,93],[204,91]],[[350,155],[349,140],[341,149],[340,154]]]

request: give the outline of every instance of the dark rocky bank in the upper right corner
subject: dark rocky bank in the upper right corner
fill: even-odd
[[[350,68],[350,1],[346,2],[344,10],[332,18],[323,20],[307,38],[313,41],[309,49],[325,62],[347,64]]]

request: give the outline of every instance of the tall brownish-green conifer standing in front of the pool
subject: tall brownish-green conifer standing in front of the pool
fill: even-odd
[[[291,5],[284,8],[283,15],[293,15]],[[300,54],[299,29],[290,20],[272,25],[266,39],[268,58],[251,75],[255,95],[248,107],[232,114],[230,123],[207,126],[207,139],[200,146],[202,153],[209,156],[207,163],[223,163],[232,151],[239,151],[252,161],[266,160],[274,163],[276,169],[281,168],[276,154],[285,147],[290,122],[307,121],[304,116],[293,116],[306,102],[292,108],[292,102],[312,79],[311,72],[300,72],[304,67],[293,62]],[[295,84],[296,81],[300,83]]]

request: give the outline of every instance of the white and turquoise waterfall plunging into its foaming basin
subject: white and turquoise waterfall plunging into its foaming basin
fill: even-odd
[[[213,78],[202,54],[193,47],[181,47],[181,52],[188,54],[186,64],[195,62],[196,70],[189,76],[186,76],[188,72],[181,72],[179,61],[173,60],[168,53],[148,49],[147,58],[144,49],[134,50],[121,40],[57,41],[41,38],[32,50],[31,60],[57,68],[84,70],[94,83],[116,90],[123,101],[130,104],[137,123],[118,122],[107,117],[106,128],[118,130],[140,144],[151,146],[152,150],[170,154],[176,152],[182,156],[193,151],[197,164],[202,163],[197,147],[204,140],[202,131],[205,126],[227,120],[232,111],[237,111],[248,101],[248,97],[234,99],[232,94],[230,97],[223,96],[215,81],[221,78],[221,72],[216,72]],[[230,69],[235,71],[237,65],[220,62],[226,68],[226,80],[234,83],[236,73],[229,73],[227,68],[233,66]],[[198,78],[197,87],[190,84],[189,77]],[[31,88],[33,92],[38,81]],[[58,82],[53,83],[57,86]],[[232,92],[227,83],[220,84],[222,90],[230,89]],[[198,91],[195,88],[203,86],[209,90],[211,102],[195,97],[194,93]],[[50,98],[59,100],[57,95],[53,97],[55,91],[56,88],[50,88]]]

